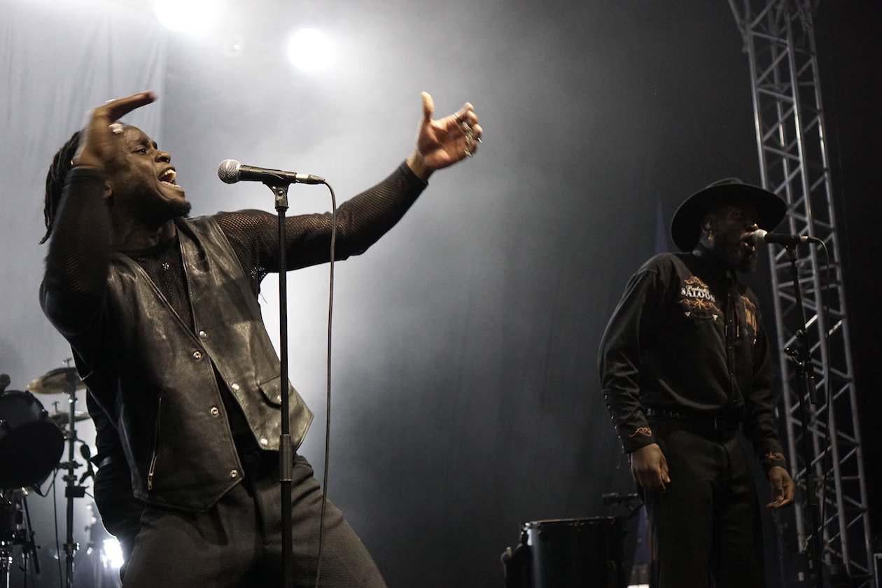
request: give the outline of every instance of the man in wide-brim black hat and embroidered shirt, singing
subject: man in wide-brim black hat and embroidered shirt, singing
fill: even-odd
[[[737,280],[756,264],[751,232],[787,206],[736,178],[688,197],[671,236],[625,288],[603,335],[609,413],[652,529],[654,588],[766,585],[759,496],[738,431],[793,501],[774,415],[774,367],[759,301]],[[764,490],[766,492],[766,490]]]

